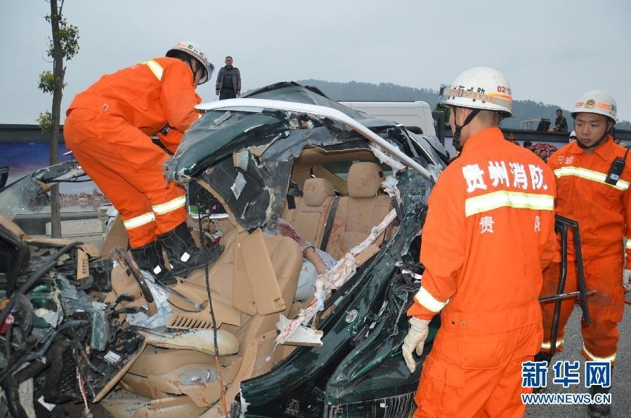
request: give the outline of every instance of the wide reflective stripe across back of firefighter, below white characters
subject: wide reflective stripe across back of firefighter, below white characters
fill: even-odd
[[[470,197],[464,201],[464,215],[497,208],[525,208],[536,210],[554,210],[554,196],[551,194],[522,193],[521,191],[498,190],[481,196]]]

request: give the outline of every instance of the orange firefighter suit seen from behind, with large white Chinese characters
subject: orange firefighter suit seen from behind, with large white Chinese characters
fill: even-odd
[[[541,269],[554,257],[552,170],[498,128],[470,137],[438,177],[422,229],[409,316],[441,328],[415,417],[521,417],[521,363],[542,340]]]

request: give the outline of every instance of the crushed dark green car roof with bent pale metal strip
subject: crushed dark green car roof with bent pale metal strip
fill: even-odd
[[[411,139],[403,126],[348,109],[296,83],[199,108],[207,113],[187,131],[165,175],[181,183],[203,180],[247,230],[278,217],[292,163],[306,147],[372,149],[379,159],[396,156],[424,177],[434,177],[401,151],[402,142]]]

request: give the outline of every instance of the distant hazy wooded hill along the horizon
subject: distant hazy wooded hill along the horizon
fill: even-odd
[[[323,80],[298,80],[297,83],[303,86],[315,86],[320,88],[325,95],[333,100],[360,100],[360,101],[408,101],[422,100],[428,102],[433,109],[438,102],[438,92],[431,88],[413,88],[398,86],[393,83],[360,83],[349,81],[348,83],[335,83]],[[534,102],[533,100],[515,100],[513,102],[513,117],[502,122],[504,128],[519,129],[521,121],[529,119],[547,118],[554,124],[557,117],[557,104],[547,104]],[[570,111],[564,109],[564,115],[568,120],[569,129],[572,130],[574,121],[570,116]],[[616,123],[616,128],[631,130],[631,122],[620,121]]]

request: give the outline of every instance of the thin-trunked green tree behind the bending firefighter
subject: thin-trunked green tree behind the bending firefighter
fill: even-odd
[[[61,114],[61,97],[63,88],[66,86],[63,81],[66,69],[63,60],[72,60],[79,52],[79,28],[68,25],[63,17],[62,9],[64,0],[47,0],[51,4],[51,14],[44,18],[51,25],[52,37],[48,39],[48,50],[46,54],[53,59],[53,71],[46,70],[39,74],[39,89],[44,93],[53,95],[52,112],[42,112],[37,121],[44,135],[50,135],[50,149],[48,152],[48,163],[53,165],[58,163],[59,147],[59,121]],[[56,184],[51,188],[51,236],[60,238],[61,217],[60,217],[60,196],[59,186]]]

